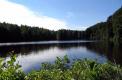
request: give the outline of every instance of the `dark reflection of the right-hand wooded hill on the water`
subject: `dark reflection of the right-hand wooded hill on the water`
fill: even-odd
[[[87,49],[98,54],[105,55],[108,60],[122,65],[122,46],[114,45],[113,43],[89,43]]]

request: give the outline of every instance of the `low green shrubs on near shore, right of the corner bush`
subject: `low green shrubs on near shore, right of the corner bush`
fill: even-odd
[[[121,80],[122,68],[112,63],[100,64],[93,60],[57,57],[54,64],[43,63],[42,69],[28,73],[26,80]]]

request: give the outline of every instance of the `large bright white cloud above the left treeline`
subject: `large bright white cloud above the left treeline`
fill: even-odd
[[[68,28],[65,21],[43,15],[38,16],[27,7],[9,0],[0,0],[0,22],[4,21],[18,25],[39,26],[51,30]]]

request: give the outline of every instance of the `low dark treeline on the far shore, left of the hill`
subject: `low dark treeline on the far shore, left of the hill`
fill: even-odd
[[[27,25],[0,23],[0,42],[44,41],[44,40],[79,40],[85,39],[84,31],[48,30]]]

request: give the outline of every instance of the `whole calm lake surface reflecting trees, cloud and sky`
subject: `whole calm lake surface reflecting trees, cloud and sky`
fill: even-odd
[[[121,46],[95,41],[40,41],[0,43],[0,56],[9,59],[8,52],[15,51],[17,62],[25,72],[40,69],[43,62],[53,63],[56,57],[67,55],[74,59],[94,59],[100,63],[111,61],[122,65]]]

